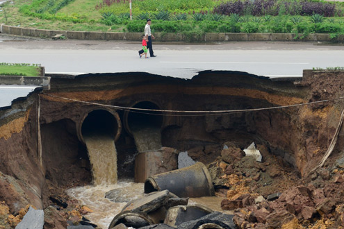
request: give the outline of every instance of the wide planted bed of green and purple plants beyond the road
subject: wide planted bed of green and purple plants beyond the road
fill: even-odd
[[[142,33],[344,34],[344,3],[320,0],[17,0],[6,3],[0,23],[67,31]],[[1,10],[0,9],[0,10]]]

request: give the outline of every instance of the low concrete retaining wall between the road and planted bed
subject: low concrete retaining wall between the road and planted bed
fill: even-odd
[[[21,28],[1,24],[0,33],[11,35],[51,38],[62,34],[76,40],[129,40],[140,41],[142,33],[111,33],[86,31],[50,31],[37,28]],[[186,37],[177,33],[154,33],[156,42],[227,42],[227,41],[302,41],[302,42],[343,42],[344,35],[331,39],[329,34],[313,33],[306,37],[291,33],[206,33],[205,35]]]

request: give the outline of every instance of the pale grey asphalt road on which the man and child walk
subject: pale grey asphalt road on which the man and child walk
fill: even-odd
[[[0,34],[0,62],[40,63],[49,73],[145,71],[179,78],[192,78],[202,70],[300,77],[303,69],[344,67],[343,45],[311,42],[153,44],[157,57],[140,59],[140,41],[26,40]]]

